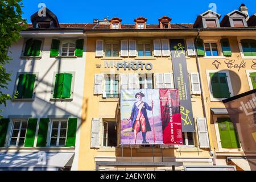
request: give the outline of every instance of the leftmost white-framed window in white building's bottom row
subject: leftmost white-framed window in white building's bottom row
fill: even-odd
[[[14,120],[10,139],[10,146],[24,146],[26,131],[26,120]]]

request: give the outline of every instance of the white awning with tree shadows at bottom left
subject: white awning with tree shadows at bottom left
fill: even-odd
[[[74,152],[4,152],[0,168],[64,168]]]

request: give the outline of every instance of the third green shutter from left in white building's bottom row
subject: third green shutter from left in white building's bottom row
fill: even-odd
[[[36,141],[36,147],[45,147],[47,142],[48,133],[48,118],[40,119],[39,130],[38,130],[38,140]]]

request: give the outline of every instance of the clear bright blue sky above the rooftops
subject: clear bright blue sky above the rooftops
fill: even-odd
[[[30,16],[39,10],[39,3],[57,15],[60,23],[92,23],[93,19],[117,16],[123,24],[133,24],[138,16],[147,18],[148,24],[158,23],[161,16],[170,16],[172,23],[194,23],[196,16],[207,11],[210,3],[215,3],[217,13],[223,16],[241,3],[249,8],[249,15],[256,13],[255,0],[23,0],[23,18],[30,23]]]

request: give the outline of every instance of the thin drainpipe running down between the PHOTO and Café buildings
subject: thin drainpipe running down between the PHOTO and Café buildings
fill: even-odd
[[[197,36],[196,36],[196,40],[195,40],[195,48],[196,48],[196,49],[197,49],[197,47],[196,47],[196,42],[197,42],[197,39],[199,38],[199,35],[200,35],[200,28],[197,30]],[[196,51],[196,66],[197,66],[197,71],[199,72],[200,89],[201,89],[201,101],[202,101],[202,106],[203,106],[203,113],[204,113],[204,117],[207,118],[206,109],[205,109],[205,104],[204,104],[203,86],[202,86],[202,84],[201,84],[201,83],[202,83],[202,80],[201,80],[200,66],[199,66],[199,60],[198,60],[197,51]],[[208,123],[207,123],[207,126],[208,126]],[[208,127],[207,127],[207,128],[208,128]],[[208,132],[208,140],[209,140],[209,146],[210,146],[209,132]],[[213,163],[214,163],[214,159],[216,159],[215,152],[212,151],[212,148],[211,148],[211,147],[210,147],[209,149],[210,149],[209,154],[210,154],[210,156],[213,156]]]

